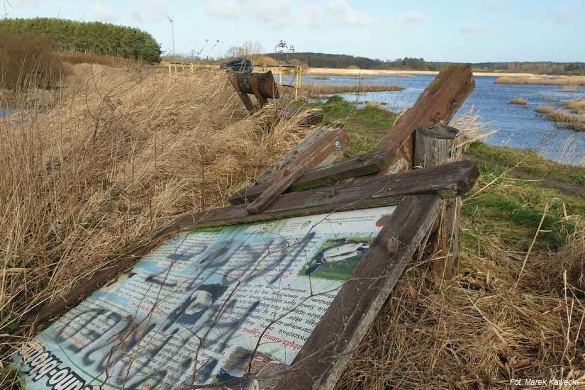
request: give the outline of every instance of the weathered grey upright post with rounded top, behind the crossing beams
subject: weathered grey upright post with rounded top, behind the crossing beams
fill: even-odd
[[[455,139],[459,130],[435,125],[417,129],[414,144],[414,165],[423,168],[453,162]],[[455,156],[453,155],[453,158]],[[459,274],[459,215],[461,198],[443,199],[441,213],[433,226],[431,248],[436,260],[433,273],[437,281]]]

